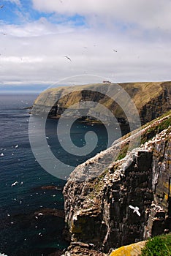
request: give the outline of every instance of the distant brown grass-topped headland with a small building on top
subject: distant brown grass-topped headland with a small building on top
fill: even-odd
[[[144,82],[144,83],[118,83],[133,100],[140,115],[142,124],[161,116],[170,110],[171,82]],[[37,97],[32,113],[34,115],[48,115],[59,118],[64,110],[78,103],[77,108],[72,107],[72,115],[80,117],[77,111],[80,102],[98,102],[114,114],[115,118],[123,124],[127,123],[124,108],[128,102],[122,102],[122,90],[115,83],[96,83],[83,86],[64,86],[47,89]],[[115,100],[113,100],[115,99]],[[128,101],[128,99],[126,99]],[[131,112],[131,111],[130,111]],[[132,113],[134,115],[134,113]],[[89,108],[82,111],[81,116],[95,116],[102,121],[110,121],[110,116],[102,109]]]

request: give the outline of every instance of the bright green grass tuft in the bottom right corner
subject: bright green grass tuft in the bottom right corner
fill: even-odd
[[[171,233],[149,239],[140,256],[171,256]]]

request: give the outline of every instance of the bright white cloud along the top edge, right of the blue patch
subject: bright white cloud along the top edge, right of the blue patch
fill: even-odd
[[[170,0],[33,0],[36,10],[83,15],[88,20],[130,23],[144,29],[170,29]]]

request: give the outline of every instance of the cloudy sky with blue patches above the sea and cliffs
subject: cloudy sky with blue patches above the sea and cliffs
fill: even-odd
[[[171,80],[170,13],[170,0],[0,0],[0,93]]]

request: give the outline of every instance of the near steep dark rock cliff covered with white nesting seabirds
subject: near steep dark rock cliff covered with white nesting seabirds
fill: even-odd
[[[171,230],[170,116],[135,132],[132,136],[141,136],[142,145],[123,159],[113,162],[113,154],[118,146],[124,151],[128,136],[76,167],[64,187],[72,241],[107,252]],[[137,212],[132,206],[138,207]]]

